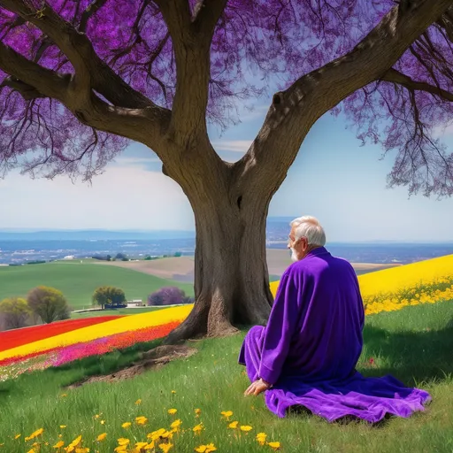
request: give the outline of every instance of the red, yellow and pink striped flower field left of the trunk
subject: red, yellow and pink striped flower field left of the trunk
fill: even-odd
[[[190,304],[124,317],[74,319],[0,333],[0,344],[4,345],[4,350],[0,350],[0,380],[162,338],[188,316],[192,307]],[[47,338],[46,327],[50,327]]]

